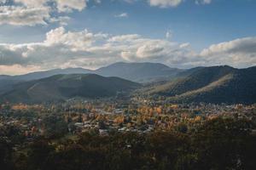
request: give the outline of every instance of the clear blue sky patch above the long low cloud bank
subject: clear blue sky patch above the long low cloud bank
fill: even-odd
[[[216,0],[207,5],[187,0],[176,8],[150,7],[145,2],[105,2],[78,14],[74,27],[157,38],[165,37],[166,31],[171,30],[174,41],[190,42],[200,49],[212,43],[255,36],[255,8],[256,1],[247,0]],[[113,18],[124,12],[128,18]]]

